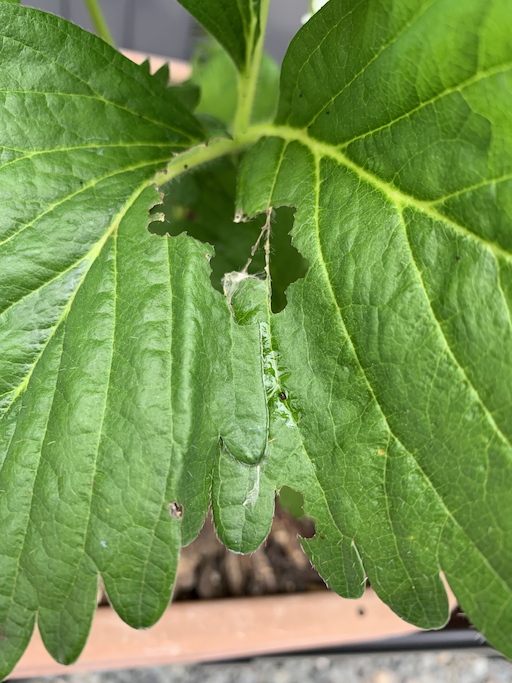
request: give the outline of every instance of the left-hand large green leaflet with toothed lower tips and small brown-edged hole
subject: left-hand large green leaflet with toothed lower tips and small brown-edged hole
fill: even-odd
[[[211,251],[146,230],[148,181],[203,135],[195,119],[54,16],[2,3],[0,27],[5,675],[36,613],[53,656],[78,656],[99,572],[132,625],[166,607],[208,504],[218,431],[204,392],[222,379],[227,312]]]

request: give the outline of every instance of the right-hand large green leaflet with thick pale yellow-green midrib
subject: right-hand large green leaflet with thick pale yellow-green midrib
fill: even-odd
[[[443,572],[509,655],[511,32],[507,0],[331,0],[292,43],[240,182],[248,215],[297,207],[310,264],[268,319],[297,415],[274,416],[271,452],[296,452],[289,472],[264,461],[265,486],[338,530],[308,543],[338,589],[344,573],[357,593],[359,555],[395,611],[439,627]]]

